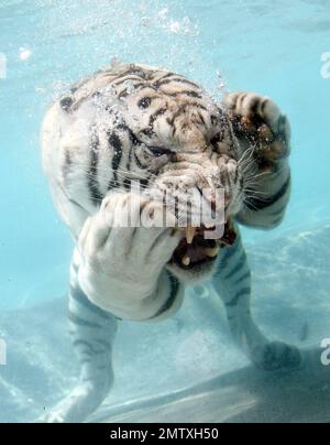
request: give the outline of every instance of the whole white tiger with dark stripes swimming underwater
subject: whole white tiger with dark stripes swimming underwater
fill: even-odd
[[[100,70],[48,110],[43,165],[76,240],[69,321],[81,376],[44,421],[86,420],[111,388],[120,319],[170,316],[187,282],[213,281],[232,335],[257,367],[300,365],[298,349],[270,343],[252,319],[251,273],[237,224],[268,229],[282,221],[290,194],[289,138],[287,119],[266,97],[234,93],[219,106],[178,74],[133,64]],[[136,181],[142,196],[131,189]],[[206,185],[226,192],[220,240],[206,240],[205,225],[180,231],[116,224],[128,206],[154,220],[164,210],[157,191],[177,199]],[[174,225],[179,211],[172,213]]]

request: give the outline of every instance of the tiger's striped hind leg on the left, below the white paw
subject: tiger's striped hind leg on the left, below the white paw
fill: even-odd
[[[81,423],[100,406],[108,395],[113,371],[111,352],[117,319],[92,305],[80,290],[72,265],[69,324],[74,349],[81,371],[78,386],[41,422]]]

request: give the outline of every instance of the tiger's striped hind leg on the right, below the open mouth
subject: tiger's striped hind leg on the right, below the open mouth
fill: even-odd
[[[231,334],[245,355],[260,369],[292,370],[301,363],[296,347],[271,343],[255,325],[251,315],[251,272],[241,237],[232,248],[222,251],[213,284],[227,310]]]

